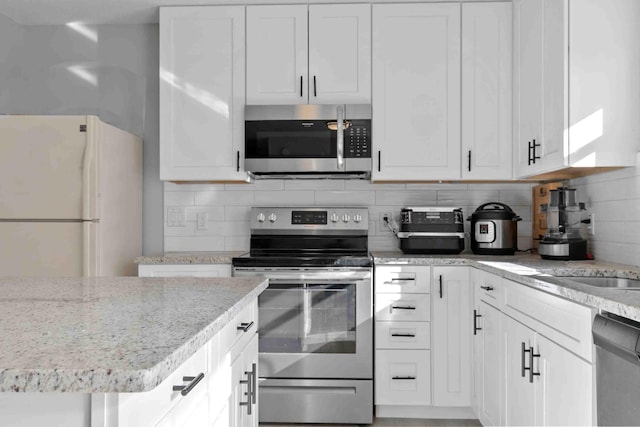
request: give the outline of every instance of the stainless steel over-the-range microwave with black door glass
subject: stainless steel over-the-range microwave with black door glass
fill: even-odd
[[[371,105],[247,105],[244,155],[256,178],[366,178]]]

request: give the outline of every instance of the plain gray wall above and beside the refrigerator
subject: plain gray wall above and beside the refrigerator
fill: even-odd
[[[97,115],[143,139],[143,253],[162,252],[158,25],[21,26],[0,15],[0,63],[0,114]]]

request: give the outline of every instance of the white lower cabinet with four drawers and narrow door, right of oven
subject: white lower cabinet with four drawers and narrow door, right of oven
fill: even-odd
[[[376,267],[378,416],[470,416],[471,294],[468,267]]]

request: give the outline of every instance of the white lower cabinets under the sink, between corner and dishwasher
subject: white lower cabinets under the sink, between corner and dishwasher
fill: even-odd
[[[489,273],[472,277],[482,424],[593,425],[594,310]]]

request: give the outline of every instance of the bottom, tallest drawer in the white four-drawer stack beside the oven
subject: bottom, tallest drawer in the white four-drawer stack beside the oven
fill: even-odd
[[[429,350],[377,350],[376,405],[431,403]]]

